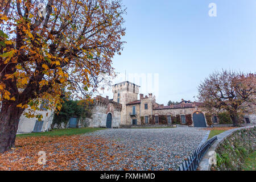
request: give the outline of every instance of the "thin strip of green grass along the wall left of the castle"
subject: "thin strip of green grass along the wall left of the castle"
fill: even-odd
[[[79,129],[55,129],[48,132],[42,133],[28,133],[28,134],[18,134],[16,137],[59,137],[59,136],[70,136],[70,135],[80,135],[84,133],[89,133],[97,130],[104,130],[104,128],[92,128],[92,127],[84,127]]]

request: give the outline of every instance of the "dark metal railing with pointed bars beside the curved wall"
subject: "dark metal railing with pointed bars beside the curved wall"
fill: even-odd
[[[193,153],[187,158],[187,160],[180,164],[177,171],[196,171],[200,160],[203,158],[215,140],[217,140],[217,137],[213,137],[207,140],[205,143],[201,144],[201,146],[197,147],[196,150],[193,151]]]

